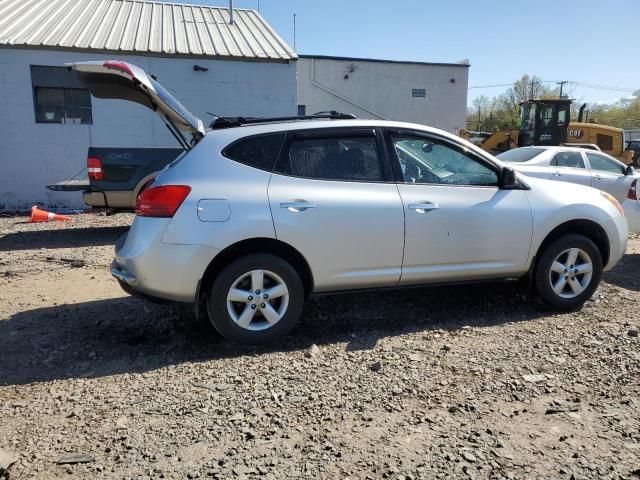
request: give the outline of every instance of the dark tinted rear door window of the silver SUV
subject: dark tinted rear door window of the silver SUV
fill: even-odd
[[[294,138],[283,160],[278,171],[287,175],[322,180],[383,180],[373,135]]]

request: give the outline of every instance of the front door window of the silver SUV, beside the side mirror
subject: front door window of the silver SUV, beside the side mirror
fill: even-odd
[[[392,135],[405,183],[497,186],[498,175],[470,154],[431,139]]]

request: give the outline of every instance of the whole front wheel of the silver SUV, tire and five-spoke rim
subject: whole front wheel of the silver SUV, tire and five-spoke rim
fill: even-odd
[[[572,311],[586,302],[602,278],[602,254],[582,235],[565,235],[542,252],[535,274],[538,295],[550,307]]]

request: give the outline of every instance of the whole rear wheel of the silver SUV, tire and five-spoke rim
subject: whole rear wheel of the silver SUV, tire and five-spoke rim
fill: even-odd
[[[211,288],[209,319],[226,339],[272,342],[288,334],[302,314],[304,288],[280,257],[252,254],[220,272]]]

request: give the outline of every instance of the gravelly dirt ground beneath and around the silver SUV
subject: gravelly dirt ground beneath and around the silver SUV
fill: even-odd
[[[510,284],[318,297],[256,349],[119,289],[130,221],[0,219],[5,476],[640,477],[637,237],[577,313]]]

